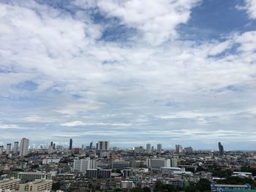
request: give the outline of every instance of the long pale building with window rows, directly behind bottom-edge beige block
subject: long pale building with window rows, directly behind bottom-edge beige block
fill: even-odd
[[[33,180],[51,180],[50,173],[45,172],[19,172],[20,183],[27,183]]]

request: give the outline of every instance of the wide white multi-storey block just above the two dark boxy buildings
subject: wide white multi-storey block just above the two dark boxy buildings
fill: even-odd
[[[75,158],[73,164],[74,172],[86,172],[88,169],[96,169],[97,168],[97,159],[91,158]]]

